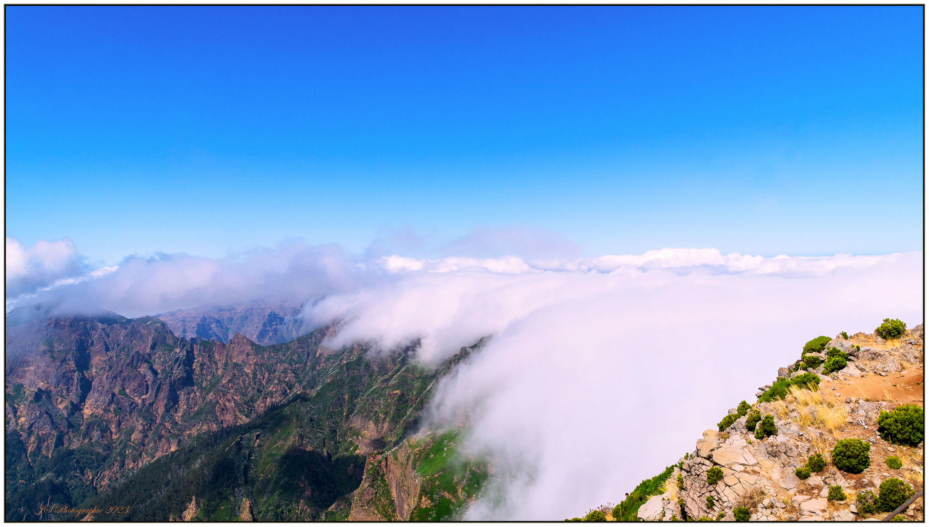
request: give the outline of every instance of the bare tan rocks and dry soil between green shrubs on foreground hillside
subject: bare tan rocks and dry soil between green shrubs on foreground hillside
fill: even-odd
[[[915,381],[910,387],[919,398],[906,402],[922,403],[922,324],[896,341],[878,342],[874,336],[857,334],[848,340],[837,336],[827,349],[833,346],[850,355],[849,364],[828,376],[820,373],[818,391],[805,390],[782,401],[753,405],[762,415],[774,417],[777,434],[756,439],[746,428],[745,416],[722,432],[704,431],[695,450],[679,460],[679,469],[672,475],[676,478],[680,474],[682,488],[652,496],[639,508],[638,517],[734,520],[733,509],[747,507],[752,520],[864,520],[854,506],[858,493],[876,493],[880,482],[890,476],[921,485],[922,444],[908,450],[886,443],[875,433],[881,411],[892,409],[900,401],[890,398],[887,389],[877,393],[867,378],[901,375],[906,370],[903,375]],[[801,373],[780,368],[778,376]],[[839,391],[852,387],[862,397]],[[771,385],[761,387],[758,395],[769,388]],[[898,387],[894,384],[893,388]],[[870,392],[874,392],[873,399],[867,396]],[[795,475],[796,468],[802,467],[810,455],[819,453],[830,459],[835,442],[847,437],[858,437],[872,445],[871,467],[864,473],[852,475],[828,464],[804,481]],[[889,453],[906,459],[905,467],[892,470],[884,466],[883,457]],[[723,474],[713,485],[707,478],[711,468],[719,468]],[[828,501],[831,485],[841,486],[847,498]],[[712,501],[708,502],[708,496]],[[909,507],[907,519],[922,520],[922,513],[920,500]]]

